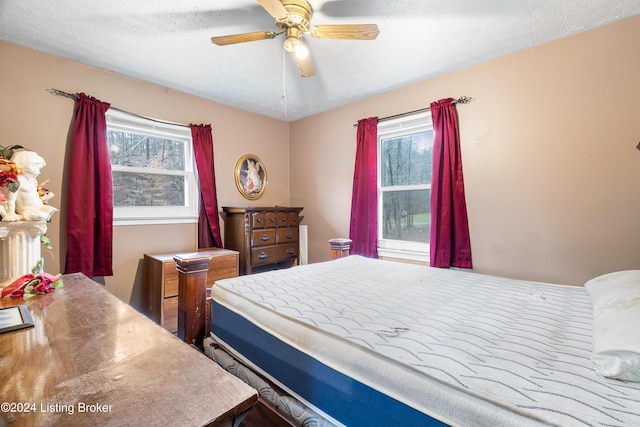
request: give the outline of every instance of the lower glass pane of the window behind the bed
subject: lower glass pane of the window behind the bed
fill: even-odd
[[[429,243],[431,190],[385,191],[382,238]]]

